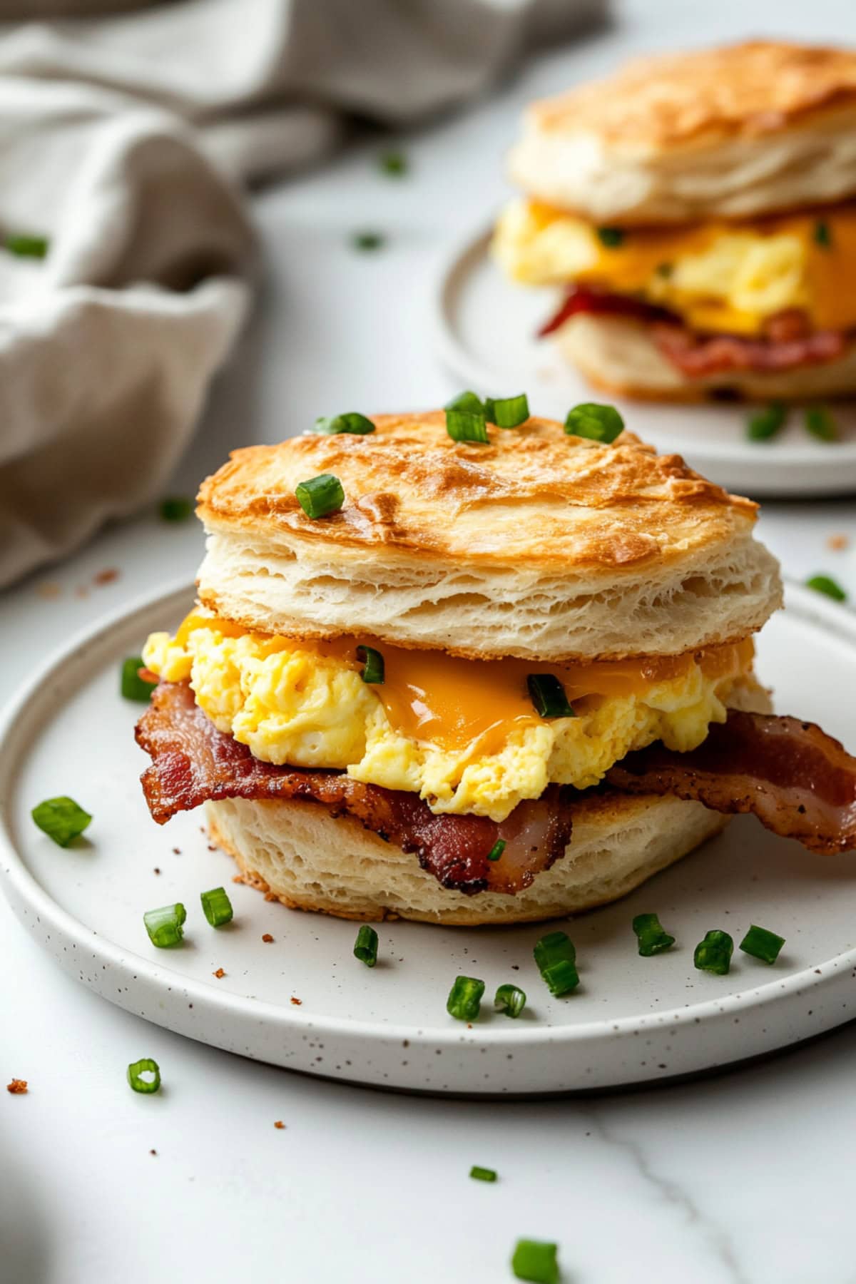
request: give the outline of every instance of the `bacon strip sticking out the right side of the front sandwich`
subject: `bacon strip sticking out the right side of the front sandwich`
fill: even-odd
[[[814,723],[732,710],[689,754],[651,745],[608,773],[630,794],[674,794],[714,811],[753,811],[811,851],[856,847],[856,758]]]

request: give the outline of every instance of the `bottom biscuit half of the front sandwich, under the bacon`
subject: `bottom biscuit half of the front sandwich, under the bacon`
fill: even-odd
[[[525,923],[626,895],[728,824],[728,817],[675,797],[620,794],[580,799],[565,854],[515,896],[467,896],[440,886],[415,855],[348,817],[305,800],[205,804],[214,842],[244,881],[290,909],[339,918],[409,918],[449,926]]]

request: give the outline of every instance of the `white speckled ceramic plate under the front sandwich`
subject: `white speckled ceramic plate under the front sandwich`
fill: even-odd
[[[137,776],[139,705],[118,663],[193,601],[182,587],[98,624],[35,674],[0,732],[0,872],[24,926],[76,977],[193,1039],[294,1070],[380,1088],[544,1093],[607,1088],[723,1066],[856,1017],[856,858],[820,858],[738,818],[728,833],[569,931],[583,984],[553,999],[531,958],[543,928],[385,923],[380,962],[352,955],[355,924],[294,913],[234,885],[198,814],[158,828]],[[765,628],[760,672],[778,707],[856,745],[856,618],[806,589]],[[56,847],[30,819],[68,794],[94,814]],[[177,849],[177,850],[176,850]],[[155,872],[155,871],[159,871]],[[214,931],[199,892],[227,886],[235,921]],[[182,900],[185,944],[157,950],[142,912]],[[634,914],[658,912],[678,945],[642,959]],[[749,923],[787,937],[774,967],[735,951],[732,972],[693,968],[710,927]],[[563,924],[562,924],[563,926]],[[273,936],[271,944],[262,933]],[[212,975],[223,968],[222,980]],[[483,1004],[467,1028],[445,1013],[454,976],[529,995],[518,1021]],[[26,985],[26,978],[19,978]],[[300,1004],[291,1000],[300,999]]]

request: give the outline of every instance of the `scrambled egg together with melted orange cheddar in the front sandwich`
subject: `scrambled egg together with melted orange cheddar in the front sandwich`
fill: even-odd
[[[385,681],[367,684],[357,646],[384,656]],[[634,749],[662,740],[694,749],[752,669],[751,641],[675,657],[542,665],[462,660],[339,638],[253,633],[191,615],[175,638],[153,633],[142,652],[169,682],[190,681],[222,732],[264,761],[347,770],[418,792],[434,811],[504,819],[548,783],[588,788]],[[574,718],[540,718],[530,673],[552,673]]]

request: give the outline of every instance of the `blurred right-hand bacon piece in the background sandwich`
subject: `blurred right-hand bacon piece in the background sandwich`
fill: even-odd
[[[815,330],[789,339],[744,339],[734,334],[699,335],[683,325],[656,324],[651,334],[660,352],[690,379],[729,370],[796,370],[835,361],[846,339],[837,330]]]

